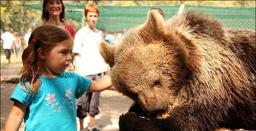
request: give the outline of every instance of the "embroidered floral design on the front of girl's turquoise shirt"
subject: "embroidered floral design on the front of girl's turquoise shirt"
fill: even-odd
[[[59,105],[60,104],[59,101],[56,101],[55,93],[53,93],[53,94],[47,93],[47,96],[45,97],[45,100],[46,100],[45,105],[53,106],[54,107],[54,109],[52,110],[53,112],[60,112],[61,108],[67,103],[68,105],[67,104],[66,105],[69,106],[70,110],[72,110],[73,109],[73,100],[71,98],[72,98],[73,94],[71,93],[71,89],[69,89],[69,90],[66,89],[65,91],[66,91],[65,100],[62,101],[61,105]]]

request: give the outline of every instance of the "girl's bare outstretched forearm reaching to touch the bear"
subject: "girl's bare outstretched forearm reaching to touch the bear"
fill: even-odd
[[[91,85],[87,92],[101,92],[112,86],[111,78],[108,76],[106,78],[101,78],[97,81],[91,80]]]

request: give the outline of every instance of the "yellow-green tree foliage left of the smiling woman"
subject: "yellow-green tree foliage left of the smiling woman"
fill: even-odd
[[[20,4],[39,4],[42,1],[14,1],[1,0],[1,30],[9,26],[12,31],[25,33],[29,27],[42,23],[41,12]]]

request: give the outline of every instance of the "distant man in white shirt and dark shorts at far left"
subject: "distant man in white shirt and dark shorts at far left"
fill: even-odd
[[[9,31],[9,27],[6,27],[5,32],[1,36],[1,39],[3,40],[3,49],[6,55],[6,59],[8,59],[8,63],[11,63],[11,49],[14,37]]]

